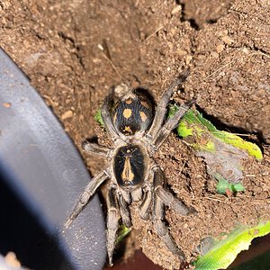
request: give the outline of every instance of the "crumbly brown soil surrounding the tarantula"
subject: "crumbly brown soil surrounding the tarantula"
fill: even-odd
[[[252,134],[264,160],[247,161],[246,192],[237,196],[217,194],[203,159],[175,135],[158,152],[171,189],[198,211],[191,217],[166,211],[177,245],[193,259],[202,238],[270,218],[270,4],[179,2],[3,0],[0,45],[78,147],[103,134],[94,113],[112,85],[141,85],[158,98],[186,67],[191,75],[175,100],[196,96],[199,111],[220,129]],[[91,173],[98,172],[103,160],[82,155]],[[152,224],[131,211],[143,252],[165,268],[179,268]]]

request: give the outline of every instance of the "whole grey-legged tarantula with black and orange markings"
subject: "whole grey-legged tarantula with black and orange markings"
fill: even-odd
[[[166,247],[184,260],[184,253],[163,223],[164,206],[169,206],[181,215],[193,212],[164,187],[164,174],[153,159],[153,154],[162,145],[170,132],[175,129],[192,102],[185,103],[172,118],[166,118],[166,106],[177,85],[184,83],[185,72],[162,95],[155,110],[148,95],[134,89],[124,94],[112,109],[112,94],[104,100],[101,114],[104,126],[111,137],[114,148],[106,148],[85,141],[82,147],[86,152],[107,158],[106,166],[99,175],[87,184],[65,226],[76,219],[96,189],[110,179],[106,194],[107,202],[107,252],[112,266],[112,253],[115,246],[118,221],[131,226],[129,205],[139,202],[139,215],[143,220],[152,220],[157,235]],[[111,113],[112,111],[112,113]],[[156,111],[156,112],[155,112]]]

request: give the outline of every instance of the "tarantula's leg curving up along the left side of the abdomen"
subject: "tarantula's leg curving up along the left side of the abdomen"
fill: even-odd
[[[119,137],[119,133],[112,123],[112,117],[110,112],[111,103],[112,103],[112,94],[109,94],[104,100],[103,106],[101,108],[101,114],[105,125],[105,129],[111,136],[112,140],[115,141]]]

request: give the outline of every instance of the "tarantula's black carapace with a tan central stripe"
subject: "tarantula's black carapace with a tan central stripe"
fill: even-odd
[[[113,173],[121,187],[141,184],[145,172],[144,155],[139,146],[127,145],[118,149],[113,160]]]

